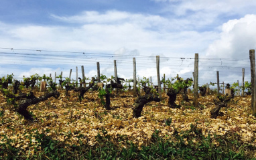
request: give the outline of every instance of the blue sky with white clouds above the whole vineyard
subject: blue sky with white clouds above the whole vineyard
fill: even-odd
[[[16,79],[81,66],[87,78],[192,77],[199,55],[199,84],[250,80],[249,50],[256,48],[253,0],[1,0],[0,76]]]

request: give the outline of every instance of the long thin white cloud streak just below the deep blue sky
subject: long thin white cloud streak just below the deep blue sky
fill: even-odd
[[[202,12],[190,15],[190,18],[180,17],[178,19],[168,16],[163,17],[160,15],[145,15],[116,10],[106,11],[104,13],[97,11],[84,11],[78,15],[69,17],[58,15],[51,16],[54,19],[64,21],[66,23],[80,23],[84,25],[94,24],[104,26],[120,26],[130,24],[133,25],[133,27],[139,27],[141,29],[147,30],[156,30],[158,32],[192,29],[193,27],[202,27],[203,25],[212,22],[212,18],[209,19],[209,17],[212,17],[212,13]],[[204,18],[202,19],[202,17]]]

